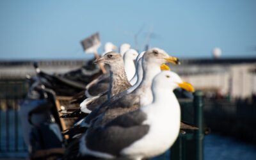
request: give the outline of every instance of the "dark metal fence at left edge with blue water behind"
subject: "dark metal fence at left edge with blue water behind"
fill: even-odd
[[[19,118],[19,102],[26,92],[23,79],[0,80],[0,158],[28,157]]]

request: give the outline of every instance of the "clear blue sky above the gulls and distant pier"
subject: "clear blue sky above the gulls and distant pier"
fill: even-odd
[[[83,59],[80,41],[160,47],[180,58],[256,56],[256,1],[1,0],[0,60]],[[102,47],[99,52],[102,51]]]

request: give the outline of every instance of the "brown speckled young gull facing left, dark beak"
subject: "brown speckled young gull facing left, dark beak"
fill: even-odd
[[[132,53],[127,52],[125,54],[132,54]],[[132,54],[132,56],[137,56],[137,55]],[[95,63],[104,63],[109,67],[110,81],[109,81],[108,91],[104,93],[100,93],[95,97],[90,97],[84,100],[80,104],[81,108],[78,108],[72,113],[69,113],[67,115],[63,115],[61,116],[61,118],[71,118],[71,117],[77,117],[77,116],[84,117],[85,115],[83,113],[90,113],[90,111],[92,111],[94,108],[96,108],[97,106],[99,106],[100,104],[108,100],[110,97],[113,97],[113,95],[123,92],[124,90],[127,90],[127,88],[131,87],[131,84],[127,80],[127,76],[125,74],[124,60],[120,54],[113,51],[107,52],[106,54],[104,54],[104,56],[102,56],[102,58],[98,58],[97,60],[95,60]]]

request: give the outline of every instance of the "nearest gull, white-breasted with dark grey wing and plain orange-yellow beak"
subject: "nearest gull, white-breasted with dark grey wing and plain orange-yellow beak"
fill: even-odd
[[[64,159],[84,156],[100,159],[148,159],[172,147],[180,130],[180,105],[175,88],[194,88],[171,71],[163,71],[152,82],[153,101],[140,109],[90,127],[67,148]]]

